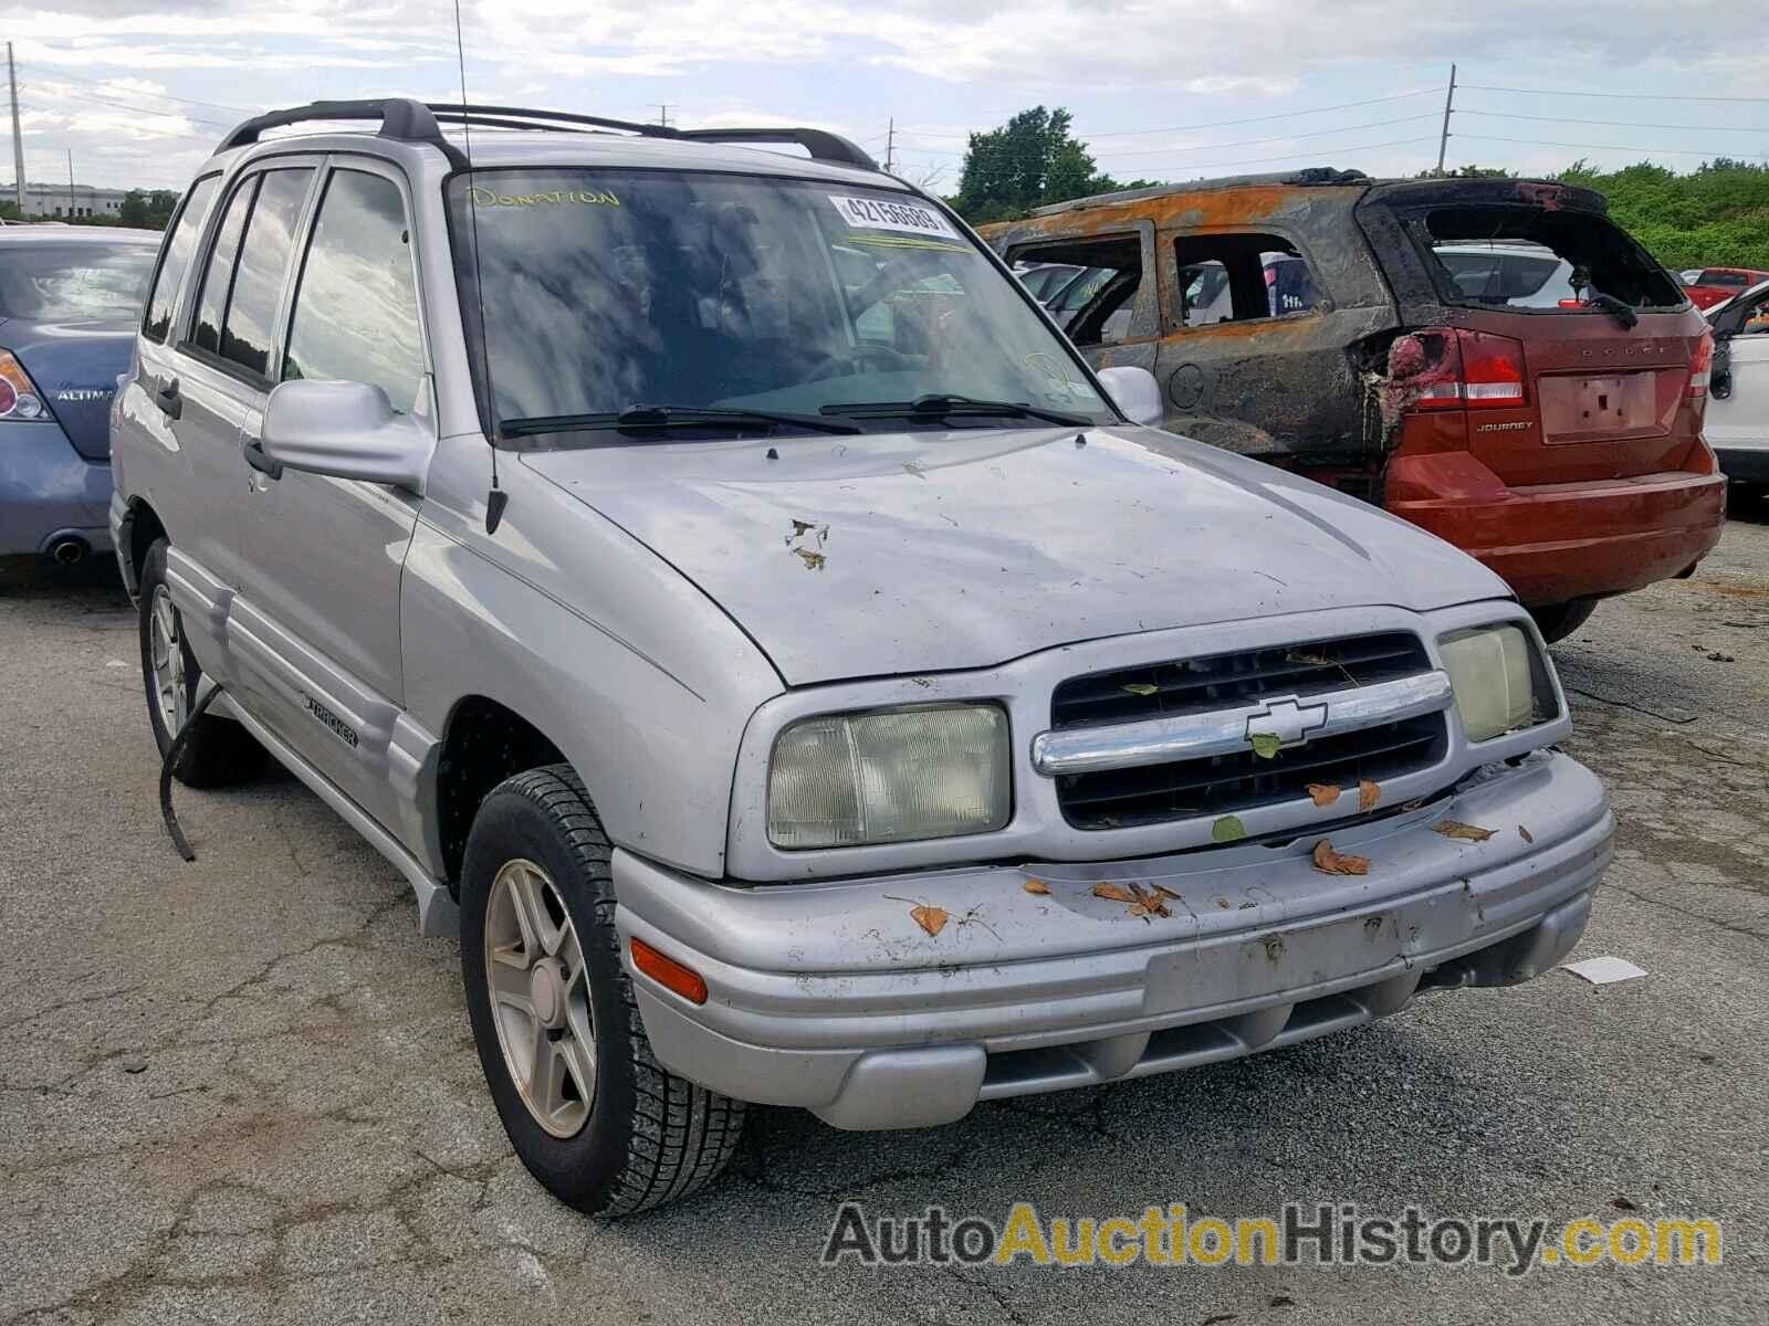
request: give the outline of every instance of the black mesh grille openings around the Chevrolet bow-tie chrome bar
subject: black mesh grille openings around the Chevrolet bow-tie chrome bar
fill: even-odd
[[[1178,659],[1072,677],[1051,700],[1058,730],[1134,723],[1162,714],[1238,709],[1267,698],[1323,695],[1429,672],[1419,638],[1406,633],[1314,640],[1275,649]],[[1079,829],[1116,829],[1173,819],[1215,817],[1306,796],[1309,783],[1355,787],[1426,769],[1444,758],[1442,713],[1318,737],[1275,758],[1251,748],[1136,769],[1063,774],[1056,796]],[[1355,794],[1346,808],[1355,812]]]

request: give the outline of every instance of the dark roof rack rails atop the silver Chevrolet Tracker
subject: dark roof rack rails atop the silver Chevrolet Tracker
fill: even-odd
[[[409,97],[315,101],[306,106],[265,111],[239,124],[221,140],[221,147],[216,150],[225,152],[232,147],[257,143],[265,129],[281,129],[310,120],[380,120],[382,138],[396,138],[405,143],[432,143],[442,149],[456,166],[465,166],[467,159],[442,136],[442,124],[481,126],[488,129],[573,129],[584,126],[577,131],[616,129],[644,138],[672,138],[676,141],[699,143],[798,143],[816,161],[877,170],[877,163],[863,149],[824,129],[672,129],[639,120],[610,120],[601,115],[531,110],[527,106],[483,106],[476,103],[432,101],[425,104]]]

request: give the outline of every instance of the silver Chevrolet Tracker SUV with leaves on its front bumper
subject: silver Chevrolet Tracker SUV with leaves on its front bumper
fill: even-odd
[[[593,1213],[745,1101],[943,1124],[1551,967],[1613,824],[1528,615],[1159,414],[824,133],[260,117],[113,408],[149,721],[458,925],[509,1139]]]

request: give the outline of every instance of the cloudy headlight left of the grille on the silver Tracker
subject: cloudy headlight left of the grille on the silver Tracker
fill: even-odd
[[[1007,714],[987,704],[807,718],[768,767],[775,847],[989,833],[1010,813]]]

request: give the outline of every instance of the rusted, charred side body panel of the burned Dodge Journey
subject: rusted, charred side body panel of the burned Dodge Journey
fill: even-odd
[[[1160,382],[1166,426],[1291,469],[1375,476],[1387,447],[1369,400],[1371,338],[1399,327],[1396,299],[1353,216],[1367,184],[1260,182],[1047,209],[984,228],[1005,256],[1060,253],[1065,240],[1139,235],[1143,281],[1130,334],[1083,345],[1099,368],[1137,364]],[[1270,235],[1309,265],[1316,306],[1284,316],[1183,325],[1182,244]],[[1150,279],[1150,274],[1153,279]]]

